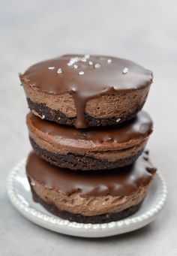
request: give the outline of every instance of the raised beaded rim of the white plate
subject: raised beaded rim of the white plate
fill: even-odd
[[[15,208],[21,212],[30,221],[38,224],[42,227],[46,227],[49,230],[54,230],[58,233],[65,233],[72,236],[83,236],[83,237],[103,237],[103,236],[113,236],[115,234],[127,233],[132,230],[139,229],[154,220],[155,216],[161,211],[164,204],[166,203],[167,197],[167,187],[163,175],[157,171],[154,179],[159,179],[160,181],[160,200],[147,212],[142,213],[136,217],[128,217],[120,221],[112,221],[104,224],[83,224],[78,222],[71,222],[55,215],[46,215],[37,209],[34,209],[30,205],[26,205],[17,197],[17,191],[14,187],[14,179],[18,175],[18,172],[26,165],[27,158],[23,158],[12,170],[10,170],[7,176],[7,195],[10,202],[15,206]],[[72,231],[77,231],[72,233]],[[105,231],[105,232],[103,232]],[[84,234],[83,234],[84,233]]]

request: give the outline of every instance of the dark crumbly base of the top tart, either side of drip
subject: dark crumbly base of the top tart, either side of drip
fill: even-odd
[[[38,104],[30,100],[30,98],[27,98],[28,101],[28,107],[30,110],[35,110],[40,116],[45,116],[44,119],[52,121],[52,122],[57,122],[58,124],[61,125],[74,125],[76,118],[68,118],[65,116],[64,113],[56,110],[52,110],[49,107],[46,107],[46,104]],[[130,119],[133,119],[136,114],[142,110],[143,104],[141,107],[139,107],[136,112],[124,116],[124,118],[121,118],[120,121],[116,122],[117,118],[111,117],[107,119],[96,119],[92,116],[89,116],[87,113],[85,113],[85,120],[87,127],[92,127],[92,126],[108,126],[108,125],[118,125],[124,121],[128,121]]]

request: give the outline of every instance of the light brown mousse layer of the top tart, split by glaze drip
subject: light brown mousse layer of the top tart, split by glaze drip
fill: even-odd
[[[68,118],[77,116],[74,98],[70,93],[65,92],[62,95],[54,95],[34,89],[27,83],[22,85],[26,92],[26,98],[29,98],[34,103],[46,104],[46,107],[60,111]],[[121,117],[130,115],[142,107],[149,89],[150,85],[139,89],[127,90],[126,92],[122,90],[112,95],[101,95],[98,98],[92,98],[86,103],[86,113],[98,119],[111,117],[121,119]]]

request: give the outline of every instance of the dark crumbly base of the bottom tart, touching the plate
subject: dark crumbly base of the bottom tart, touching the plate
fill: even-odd
[[[119,221],[122,218],[127,218],[128,216],[135,213],[142,204],[141,202],[139,204],[136,204],[135,206],[131,206],[127,209],[124,209],[121,212],[107,213],[107,214],[95,215],[95,216],[84,216],[80,214],[74,214],[71,212],[62,211],[58,209],[58,207],[56,207],[53,203],[46,203],[35,193],[32,187],[31,187],[31,192],[32,192],[33,200],[36,203],[40,203],[48,212],[51,212],[53,215],[56,215],[60,218],[68,219],[68,221],[76,221],[79,223],[92,223],[92,224],[100,223],[101,224],[101,223],[107,223],[111,221]]]

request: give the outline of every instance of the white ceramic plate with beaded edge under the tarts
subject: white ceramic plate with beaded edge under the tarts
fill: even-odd
[[[166,201],[166,184],[163,176],[157,172],[142,206],[129,218],[107,224],[82,224],[67,221],[50,214],[39,203],[34,203],[25,165],[26,159],[23,159],[10,171],[7,179],[7,194],[10,201],[30,221],[58,233],[83,237],[104,237],[127,233],[153,221]]]

